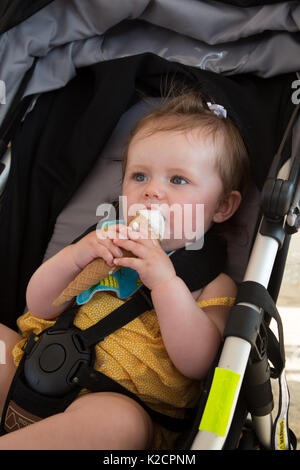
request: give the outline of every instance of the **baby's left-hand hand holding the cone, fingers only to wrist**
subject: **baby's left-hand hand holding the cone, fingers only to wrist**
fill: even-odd
[[[91,261],[102,258],[109,266],[114,266],[114,258],[122,256],[113,239],[120,236],[120,226],[110,225],[107,230],[96,230],[71,245],[73,260],[79,269],[84,269]]]

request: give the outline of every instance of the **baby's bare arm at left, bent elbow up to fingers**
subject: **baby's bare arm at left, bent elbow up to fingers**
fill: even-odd
[[[111,231],[117,229],[112,226]],[[103,238],[100,238],[100,235]],[[95,258],[103,258],[113,266],[115,256],[122,256],[109,239],[110,232],[91,232],[74,245],[69,245],[43,263],[29,281],[26,301],[29,311],[40,318],[52,319],[70,306],[73,300],[53,307],[54,300],[67,285]]]

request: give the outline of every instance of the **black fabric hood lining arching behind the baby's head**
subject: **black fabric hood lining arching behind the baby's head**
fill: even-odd
[[[152,54],[77,70],[62,89],[44,93],[12,140],[12,168],[1,207],[1,322],[16,328],[28,281],[41,264],[55,220],[93,164],[120,116],[140,95],[159,96],[167,80],[201,87],[222,104],[248,147],[262,187],[293,109],[295,75],[224,77]],[[78,234],[79,235],[79,234]],[[72,240],[70,240],[71,242]]]

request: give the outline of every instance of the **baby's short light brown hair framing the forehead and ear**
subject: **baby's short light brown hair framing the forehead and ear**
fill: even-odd
[[[224,194],[232,190],[243,193],[249,175],[249,163],[240,132],[229,117],[224,118],[211,111],[204,95],[195,89],[183,89],[173,97],[169,94],[161,106],[156,106],[137,123],[125,148],[123,177],[130,143],[140,131],[143,131],[142,136],[147,137],[156,132],[194,129],[200,129],[201,137],[211,137],[214,142],[217,151],[216,168],[224,185]]]

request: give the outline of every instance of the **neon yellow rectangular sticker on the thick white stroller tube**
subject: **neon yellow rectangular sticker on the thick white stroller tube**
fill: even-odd
[[[237,372],[216,367],[199,430],[226,435],[239,380]]]

